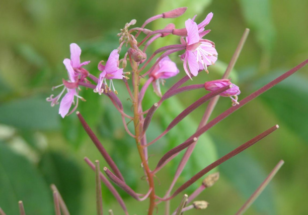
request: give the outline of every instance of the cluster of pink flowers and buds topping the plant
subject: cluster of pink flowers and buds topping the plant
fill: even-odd
[[[186,9],[182,8],[174,11],[171,10],[168,13],[163,13],[162,17],[174,18],[185,10]],[[79,86],[93,88],[93,85],[90,84],[90,81],[88,81],[87,78],[91,79],[93,82],[96,83],[96,87],[93,88],[93,91],[95,93],[98,93],[99,95],[109,94],[112,92],[118,94],[114,87],[113,79],[129,79],[127,76],[124,75],[129,75],[130,72],[123,72],[124,67],[126,67],[128,56],[130,57],[130,60],[134,60],[135,62],[137,62],[138,65],[144,63],[145,67],[149,64],[149,62],[154,58],[157,53],[164,52],[161,57],[156,59],[154,65],[145,74],[149,75],[149,81],[152,82],[154,92],[159,97],[162,97],[160,83],[163,85],[165,79],[174,77],[179,73],[179,69],[177,68],[176,64],[171,61],[168,56],[173,52],[185,50],[185,52],[180,55],[180,59],[183,61],[183,69],[190,79],[192,79],[192,76],[197,76],[198,73],[202,70],[205,70],[207,73],[209,73],[208,67],[215,64],[215,62],[217,61],[218,53],[216,51],[214,42],[204,39],[203,37],[210,32],[210,30],[205,30],[205,26],[210,23],[213,17],[213,13],[209,13],[206,18],[199,24],[194,21],[195,17],[196,16],[194,16],[192,19],[186,20],[185,28],[182,29],[176,29],[174,24],[170,23],[162,30],[151,31],[144,28],[144,26],[143,28],[135,28],[130,30],[129,27],[131,25],[134,25],[136,23],[136,20],[132,20],[130,23],[127,23],[125,25],[125,28],[121,29],[122,32],[118,34],[119,36],[121,36],[120,46],[110,53],[110,56],[105,65],[103,65],[103,61],[98,63],[98,70],[100,71],[98,78],[96,78],[94,75],[91,75],[87,70],[83,68],[83,66],[88,64],[89,61],[80,63],[81,49],[76,43],[72,43],[71,59],[65,59],[63,62],[68,71],[69,79],[63,80],[62,85],[54,87],[54,89],[56,89],[60,86],[64,86],[64,89],[57,97],[51,95],[49,98],[47,98],[47,101],[51,102],[52,106],[59,104],[59,100],[61,99],[62,95],[64,94],[64,92],[67,92],[61,100],[59,113],[62,117],[72,113],[77,108],[78,99],[85,101],[82,97],[78,95],[80,91]],[[152,19],[154,20],[154,18]],[[139,47],[145,41],[138,43],[136,38],[140,32],[135,35],[135,38],[131,34],[133,30],[139,30],[140,32],[146,33],[147,39],[152,36],[152,38],[148,40],[143,51]],[[154,52],[154,55],[147,60],[147,55],[145,54],[145,50],[147,49],[147,47],[152,42],[154,42],[155,39],[167,36],[171,33],[180,36],[180,44],[162,47],[156,52]],[[119,50],[121,50],[124,44],[131,44],[132,48],[129,48],[128,51],[125,53],[124,58],[119,60]],[[119,67],[120,61],[123,62],[123,68]],[[142,67],[142,69],[144,67]],[[109,83],[107,83],[107,80],[109,80]],[[209,84],[213,85],[213,83],[215,82],[218,83],[215,85],[216,87],[208,86]],[[212,91],[226,86],[226,84],[229,84],[229,82],[221,82],[221,80],[207,82],[205,88]],[[232,93],[229,90],[228,92],[229,97],[231,97],[233,101],[232,104],[238,104],[237,95],[240,93],[240,91],[238,90],[236,91],[236,93]],[[227,95],[226,92],[221,94],[221,96],[225,95]],[[234,98],[232,98],[232,96]],[[70,111],[70,108],[73,104],[75,105],[75,107]]]

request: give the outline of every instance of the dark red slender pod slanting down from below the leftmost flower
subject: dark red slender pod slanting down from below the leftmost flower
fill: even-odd
[[[110,155],[108,154],[108,152],[106,151],[106,149],[103,147],[103,145],[101,144],[101,142],[98,140],[97,136],[94,134],[94,132],[92,131],[92,129],[89,127],[89,125],[85,122],[84,118],[82,117],[81,113],[79,111],[76,112],[82,127],[84,128],[84,130],[86,131],[86,133],[89,135],[89,137],[91,138],[91,140],[93,141],[93,143],[95,144],[96,148],[99,150],[99,152],[101,153],[101,155],[104,157],[104,159],[106,160],[106,162],[109,164],[110,168],[112,169],[112,171],[114,172],[114,174],[120,178],[122,181],[124,181],[124,178],[120,172],[120,170],[118,169],[117,165],[115,164],[115,162],[112,160],[112,158],[110,157]]]

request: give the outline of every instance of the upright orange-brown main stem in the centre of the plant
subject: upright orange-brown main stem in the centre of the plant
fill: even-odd
[[[134,86],[134,101],[133,101],[133,106],[134,106],[134,125],[135,125],[135,140],[136,140],[136,145],[137,149],[142,161],[143,168],[146,172],[148,182],[149,182],[149,187],[150,189],[152,188],[152,192],[150,194],[150,207],[148,211],[148,215],[153,215],[153,211],[155,208],[155,192],[154,192],[154,178],[153,174],[151,173],[151,170],[149,168],[148,162],[145,158],[143,146],[141,145],[141,134],[143,133],[142,131],[142,126],[140,123],[140,113],[139,110],[142,110],[142,108],[139,108],[139,72],[138,72],[138,65],[137,63],[132,60],[132,69],[133,69],[133,86]]]

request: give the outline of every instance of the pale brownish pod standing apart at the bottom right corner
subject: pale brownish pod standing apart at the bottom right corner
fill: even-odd
[[[262,182],[262,184],[256,189],[256,191],[249,197],[247,202],[238,210],[235,215],[242,215],[245,211],[251,206],[251,204],[258,198],[258,196],[262,193],[268,183],[274,178],[276,173],[279,171],[281,166],[284,164],[284,161],[281,160],[275,166],[275,168],[271,171],[271,173],[266,177],[266,179]]]

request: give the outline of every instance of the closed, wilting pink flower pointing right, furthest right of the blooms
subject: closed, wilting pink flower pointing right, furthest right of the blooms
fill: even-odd
[[[240,91],[236,85],[231,83],[230,79],[219,79],[205,82],[204,88],[208,91],[216,91],[227,85],[232,85],[232,87],[229,90],[226,90],[225,92],[221,93],[220,95],[223,97],[230,97],[232,100],[232,106],[238,105],[239,103],[237,102],[237,95],[240,94]],[[232,98],[232,96],[234,98]]]

